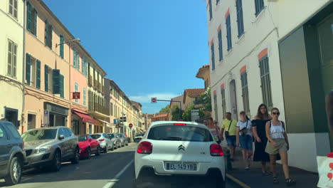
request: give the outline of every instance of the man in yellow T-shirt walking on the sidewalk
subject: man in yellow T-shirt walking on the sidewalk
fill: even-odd
[[[222,122],[220,137],[224,140],[223,133],[226,136],[226,142],[230,150],[230,159],[234,160],[236,148],[236,126],[237,120],[231,119],[231,113],[226,113],[226,119]]]

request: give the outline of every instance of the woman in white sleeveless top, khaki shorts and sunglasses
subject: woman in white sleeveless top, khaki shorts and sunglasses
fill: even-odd
[[[290,186],[295,184],[295,179],[289,177],[288,157],[287,150],[289,150],[289,141],[287,133],[285,132],[285,123],[279,120],[280,110],[273,108],[271,111],[272,120],[266,122],[266,136],[268,143],[266,145],[266,152],[270,154],[270,170],[273,172],[273,183],[277,184],[279,181],[276,177],[276,155],[281,156],[283,173],[285,174],[285,183]]]

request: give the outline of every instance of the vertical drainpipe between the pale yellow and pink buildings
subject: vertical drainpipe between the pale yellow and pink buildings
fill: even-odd
[[[21,134],[23,134],[24,131],[24,108],[25,108],[25,95],[26,95],[26,0],[23,0],[24,9],[23,9],[23,68],[22,68],[22,111],[21,111],[21,125],[22,130]]]

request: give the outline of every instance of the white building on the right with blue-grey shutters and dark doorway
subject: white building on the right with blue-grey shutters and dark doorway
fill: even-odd
[[[317,171],[315,157],[330,149],[322,112],[324,93],[333,88],[327,53],[332,51],[332,1],[206,3],[213,117],[221,122],[231,112],[238,119],[241,110],[253,117],[261,103],[279,108],[295,148],[290,165]],[[300,4],[302,11],[295,14]]]

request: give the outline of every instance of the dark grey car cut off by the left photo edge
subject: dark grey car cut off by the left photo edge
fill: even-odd
[[[18,184],[26,163],[23,140],[11,122],[0,121],[0,179],[6,184]]]

